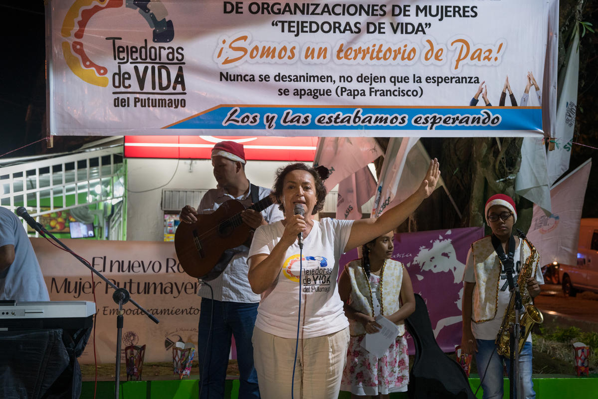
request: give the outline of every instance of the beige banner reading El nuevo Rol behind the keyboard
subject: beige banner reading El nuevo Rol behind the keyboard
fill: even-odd
[[[139,306],[160,322],[155,324],[131,303],[124,304],[122,348],[147,345],[145,361],[172,361],[172,345],[193,342],[197,347],[197,324],[201,298],[197,279],[179,266],[172,242],[99,241],[63,239],[73,252],[87,259],[118,287],[126,288]],[[43,238],[32,238],[52,301],[94,301],[97,363],[114,363],[118,305],[111,287],[94,275],[95,300],[91,293],[91,272],[71,254]],[[82,364],[93,364],[93,335]]]

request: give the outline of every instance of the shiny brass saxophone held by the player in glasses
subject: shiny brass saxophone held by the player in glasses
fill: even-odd
[[[540,312],[537,307],[533,306],[532,297],[530,296],[529,292],[527,292],[527,279],[532,277],[533,264],[538,261],[538,252],[532,243],[530,243],[527,239],[524,238],[523,241],[529,245],[532,253],[529,255],[529,257],[527,257],[525,263],[523,263],[523,267],[521,267],[521,270],[519,271],[519,277],[517,278],[517,285],[519,286],[519,291],[521,294],[521,304],[523,304],[523,312],[520,313],[521,319],[519,321],[521,326],[521,334],[519,336],[518,345],[519,352],[521,352],[521,349],[523,349],[523,345],[525,344],[530,331],[532,331],[533,325],[536,323],[542,324],[542,322],[544,322],[544,315],[542,315],[542,312]],[[523,242],[521,245],[523,245]],[[511,301],[509,301],[509,306],[507,306],[505,315],[502,318],[501,329],[498,331],[498,336],[496,336],[495,341],[496,352],[506,358],[511,357],[509,346],[509,342],[511,341],[510,330],[514,323],[515,296],[511,296]]]

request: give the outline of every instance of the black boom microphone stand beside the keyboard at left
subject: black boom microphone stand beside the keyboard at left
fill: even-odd
[[[26,214],[26,215],[29,216],[28,214]],[[54,237],[54,235],[52,233],[48,232],[48,230],[46,230],[45,227],[41,223],[38,223],[35,220],[33,220],[33,224],[32,224],[31,221],[27,220],[27,218],[23,218],[23,219],[25,219],[25,221],[27,221],[29,223],[29,226],[33,227],[33,229],[35,229],[36,232],[38,232],[39,234],[41,234],[44,237],[48,236],[51,239],[53,239],[54,241],[56,241],[60,246],[62,246],[62,248],[66,249],[66,251],[68,251],[71,255],[73,255],[75,258],[77,258],[78,261],[83,263],[85,265],[85,267],[87,267],[87,269],[91,270],[91,272],[93,272],[93,273],[96,273],[96,275],[100,279],[102,279],[107,285],[109,285],[109,287],[114,288],[114,294],[112,294],[112,300],[114,300],[114,302],[118,304],[118,313],[117,313],[117,321],[116,321],[117,353],[116,353],[116,361],[115,361],[116,376],[115,376],[115,386],[114,386],[114,388],[115,388],[114,389],[114,397],[115,397],[115,399],[118,399],[118,394],[119,394],[118,390],[120,388],[120,351],[121,351],[121,340],[123,337],[123,324],[124,324],[123,304],[130,302],[130,303],[134,304],[139,310],[141,310],[142,313],[145,313],[145,315],[148,316],[149,319],[151,319],[151,321],[155,322],[156,324],[158,324],[160,321],[157,318],[155,318],[154,315],[152,315],[147,310],[145,310],[143,307],[139,306],[139,304],[136,301],[131,299],[129,291],[127,291],[125,288],[118,288],[116,285],[114,285],[114,283],[112,283],[107,278],[105,278],[105,276],[103,276],[102,273],[98,272],[96,269],[94,269],[89,264],[87,264],[86,260],[84,260],[79,255],[75,254],[75,252],[71,251],[71,249],[68,248],[68,246],[64,245],[59,239]],[[97,316],[97,314],[96,314],[96,316]]]

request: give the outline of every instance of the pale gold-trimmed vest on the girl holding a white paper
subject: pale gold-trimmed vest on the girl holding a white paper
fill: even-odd
[[[345,266],[351,282],[350,306],[360,313],[374,317],[374,303],[371,291],[370,279],[361,267],[361,259],[350,261]],[[401,284],[403,282],[403,264],[399,261],[388,259],[380,271],[380,314],[383,316],[392,315],[401,304]],[[405,324],[397,323],[399,337],[405,334]],[[349,331],[352,336],[365,334],[364,326],[355,320],[349,319]]]

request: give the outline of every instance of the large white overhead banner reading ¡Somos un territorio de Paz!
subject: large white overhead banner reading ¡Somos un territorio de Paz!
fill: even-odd
[[[554,1],[51,0],[49,131],[538,135]]]

